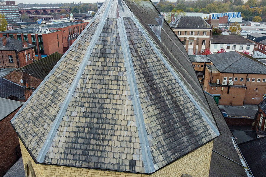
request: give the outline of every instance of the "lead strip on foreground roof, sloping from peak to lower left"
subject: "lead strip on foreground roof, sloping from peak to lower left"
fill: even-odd
[[[59,112],[57,114],[57,116],[56,116],[56,119],[55,119],[50,131],[48,132],[48,135],[46,137],[46,140],[45,140],[41,150],[38,153],[38,156],[37,156],[36,160],[38,162],[40,162],[40,163],[43,162],[43,160],[44,160],[44,158],[46,156],[46,153],[47,153],[47,151],[49,150],[49,148],[51,146],[53,138],[54,138],[54,136],[55,136],[55,134],[57,132],[57,129],[59,127],[59,124],[61,123],[61,121],[62,121],[62,119],[63,119],[63,117],[64,117],[64,115],[65,115],[65,113],[67,111],[67,107],[69,105],[69,102],[70,102],[70,100],[71,100],[71,98],[73,96],[73,93],[74,93],[74,91],[75,91],[75,89],[77,87],[77,84],[78,84],[78,82],[79,82],[79,80],[80,80],[80,78],[82,76],[82,73],[84,72],[84,70],[86,68],[86,65],[88,63],[88,60],[90,59],[90,55],[91,55],[91,53],[93,51],[93,48],[95,47],[96,42],[97,42],[97,40],[98,40],[98,38],[100,36],[100,33],[102,32],[103,26],[104,26],[104,24],[106,22],[107,12],[109,11],[110,4],[111,4],[111,1],[109,1],[108,9],[104,12],[103,19],[100,20],[100,22],[98,24],[98,27],[95,30],[93,38],[92,38],[92,40],[91,40],[91,42],[90,42],[90,44],[89,44],[89,46],[87,48],[87,52],[84,55],[82,63],[80,63],[80,66],[79,66],[80,68],[77,71],[77,74],[76,74],[76,76],[75,76],[75,78],[74,78],[74,80],[72,82],[72,85],[68,89],[69,91],[67,93],[67,96],[66,96],[66,98],[65,98],[65,100],[64,100],[64,102],[63,102],[63,104],[62,104],[62,106],[61,106],[61,108],[60,108],[60,110],[59,110]]]

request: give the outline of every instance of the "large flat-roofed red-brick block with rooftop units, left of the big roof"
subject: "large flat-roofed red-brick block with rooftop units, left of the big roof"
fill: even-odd
[[[1,31],[0,37],[12,37],[35,45],[35,58],[38,60],[55,52],[66,52],[71,40],[75,40],[86,26],[87,22],[35,24],[33,27]]]

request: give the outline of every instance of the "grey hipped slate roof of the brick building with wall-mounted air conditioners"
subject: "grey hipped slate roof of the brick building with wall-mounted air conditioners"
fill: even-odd
[[[266,74],[266,66],[251,56],[237,51],[207,55],[221,73]]]

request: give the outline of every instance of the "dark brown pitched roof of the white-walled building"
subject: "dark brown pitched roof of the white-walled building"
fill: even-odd
[[[214,35],[211,39],[212,44],[249,44],[254,45],[241,35],[231,33],[230,35]]]

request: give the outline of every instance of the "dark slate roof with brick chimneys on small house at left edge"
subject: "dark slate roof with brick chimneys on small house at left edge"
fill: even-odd
[[[22,41],[10,37],[6,37],[7,44],[3,46],[2,38],[3,37],[0,37],[0,50],[12,50],[12,51],[14,50],[19,52],[25,50],[24,46],[22,45]],[[30,43],[27,43],[27,45],[28,46],[26,47],[26,50],[34,47],[34,45]]]

